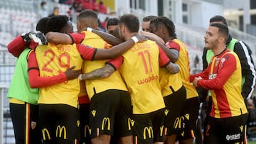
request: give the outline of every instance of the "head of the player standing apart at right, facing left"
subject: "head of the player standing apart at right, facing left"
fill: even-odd
[[[228,39],[228,27],[223,23],[211,23],[206,31],[205,48],[225,48]]]

